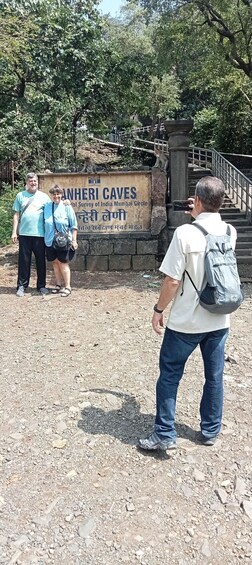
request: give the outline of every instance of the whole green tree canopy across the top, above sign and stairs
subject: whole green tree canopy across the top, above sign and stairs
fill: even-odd
[[[193,118],[195,143],[252,150],[250,0],[0,0],[0,160],[56,167],[78,131]]]

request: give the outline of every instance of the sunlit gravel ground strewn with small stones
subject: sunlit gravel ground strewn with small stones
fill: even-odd
[[[150,319],[159,276],[76,272],[64,301],[34,289],[18,299],[16,256],[7,251],[0,563],[251,563],[252,285],[232,316],[220,439],[212,448],[195,439],[196,351],[179,389],[179,448],[145,454],[135,443],[155,412],[161,339]]]

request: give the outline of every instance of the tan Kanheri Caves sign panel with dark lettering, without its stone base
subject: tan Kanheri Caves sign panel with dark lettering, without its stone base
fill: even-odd
[[[64,189],[77,216],[79,234],[146,232],[151,222],[151,173],[40,175],[41,190]]]

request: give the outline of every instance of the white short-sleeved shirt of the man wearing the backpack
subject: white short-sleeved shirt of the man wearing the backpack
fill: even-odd
[[[197,223],[213,235],[226,233],[227,224],[222,221],[219,213],[203,212],[197,216]],[[231,245],[234,249],[237,233],[233,226],[230,227]],[[167,327],[172,330],[201,333],[228,328],[230,325],[230,315],[212,314],[200,306],[198,294],[186,274],[183,282],[183,273],[187,270],[199,290],[205,284],[205,248],[204,234],[192,224],[184,224],[175,230],[160,266],[162,273],[181,281],[167,321]]]

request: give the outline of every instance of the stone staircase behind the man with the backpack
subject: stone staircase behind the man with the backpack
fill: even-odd
[[[189,167],[188,189],[189,196],[195,193],[196,183],[203,176],[211,175],[210,169]],[[226,196],[220,209],[222,219],[232,224],[237,230],[236,256],[239,273],[243,277],[252,276],[252,225],[244,212],[235,206]]]

